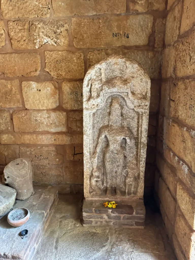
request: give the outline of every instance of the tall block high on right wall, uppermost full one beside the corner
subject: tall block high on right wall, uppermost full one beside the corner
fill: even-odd
[[[165,44],[168,45],[177,40],[179,36],[182,4],[179,2],[166,19]]]

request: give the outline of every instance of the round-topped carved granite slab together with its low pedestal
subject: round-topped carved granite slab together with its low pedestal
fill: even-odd
[[[121,55],[95,64],[83,82],[83,225],[143,228],[150,78]],[[115,209],[104,207],[115,201]]]

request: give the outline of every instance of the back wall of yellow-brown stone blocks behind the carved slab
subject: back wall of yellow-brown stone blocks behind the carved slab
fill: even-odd
[[[0,170],[19,157],[35,184],[82,191],[82,81],[122,54],[152,80],[145,192],[152,194],[165,0],[1,0]]]

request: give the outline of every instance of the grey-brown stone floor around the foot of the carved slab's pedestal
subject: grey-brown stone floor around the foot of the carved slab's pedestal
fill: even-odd
[[[80,196],[59,195],[33,260],[176,260],[150,209],[145,229],[132,230],[83,227],[81,206]]]

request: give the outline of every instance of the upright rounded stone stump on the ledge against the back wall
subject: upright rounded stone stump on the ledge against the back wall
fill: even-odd
[[[4,168],[5,183],[16,190],[16,199],[24,200],[33,193],[32,166],[27,158],[11,161]]]

